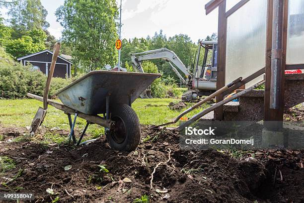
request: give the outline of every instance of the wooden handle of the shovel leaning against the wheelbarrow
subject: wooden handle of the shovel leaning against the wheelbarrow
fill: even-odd
[[[55,65],[56,65],[56,61],[57,61],[57,57],[59,54],[59,50],[60,50],[60,46],[61,43],[60,42],[56,42],[55,46],[54,46],[54,50],[53,50],[53,57],[52,57],[52,63],[51,63],[51,67],[50,67],[50,72],[48,74],[48,79],[44,88],[44,94],[43,94],[43,109],[47,109],[48,108],[48,96],[49,96],[49,90],[50,90],[50,85],[51,85],[51,81],[53,78],[53,74],[54,74],[54,70],[55,70]]]

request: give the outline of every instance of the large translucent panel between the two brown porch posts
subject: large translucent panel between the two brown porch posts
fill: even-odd
[[[228,17],[226,84],[265,67],[266,16],[267,0],[250,0]],[[260,76],[246,87],[262,79]]]

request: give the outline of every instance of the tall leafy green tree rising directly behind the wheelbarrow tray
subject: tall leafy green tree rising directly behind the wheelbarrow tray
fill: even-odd
[[[84,71],[117,62],[118,7],[115,0],[65,0],[56,11],[64,27],[64,42],[72,45],[72,56]]]

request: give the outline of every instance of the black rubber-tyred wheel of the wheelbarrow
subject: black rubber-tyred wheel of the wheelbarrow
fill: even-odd
[[[111,120],[115,127],[106,133],[112,149],[133,151],[140,142],[141,126],[135,111],[127,104],[114,104],[111,109]]]

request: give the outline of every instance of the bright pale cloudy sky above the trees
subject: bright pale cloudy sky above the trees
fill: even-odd
[[[153,36],[160,29],[167,36],[187,34],[193,42],[218,30],[218,9],[205,14],[209,0],[122,0],[122,38]],[[47,9],[48,30],[61,37],[55,11],[64,0],[41,0]],[[120,4],[117,0],[118,5]],[[2,10],[1,10],[2,11]]]

